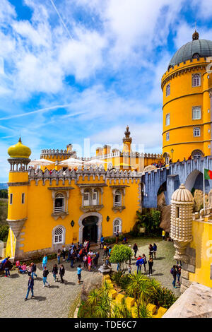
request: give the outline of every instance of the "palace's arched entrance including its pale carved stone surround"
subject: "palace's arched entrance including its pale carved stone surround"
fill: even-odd
[[[78,225],[79,225],[78,241],[80,243],[83,243],[83,239],[85,239],[86,236],[91,237],[92,242],[100,243],[100,238],[102,236],[102,215],[100,213],[98,212],[84,213],[79,218]]]

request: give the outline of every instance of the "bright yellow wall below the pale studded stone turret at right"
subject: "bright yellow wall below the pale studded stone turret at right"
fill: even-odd
[[[210,269],[212,263],[212,223],[193,220],[192,248],[196,249],[196,271],[189,273],[189,280],[212,287]]]

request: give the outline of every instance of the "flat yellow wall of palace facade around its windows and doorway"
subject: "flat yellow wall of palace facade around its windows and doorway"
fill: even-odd
[[[100,177],[90,179],[89,183],[103,183],[104,180]],[[88,179],[85,179],[83,182],[80,178],[78,183],[88,183]],[[102,235],[104,237],[113,235],[113,220],[115,218],[122,219],[122,232],[129,232],[133,227],[136,221],[136,211],[139,209],[138,202],[138,191],[139,191],[139,181],[131,184],[131,180],[129,182],[129,188],[126,188],[126,194],[124,197],[124,209],[122,212],[115,213],[112,210],[113,207],[113,195],[112,195],[112,185],[114,182],[109,183],[107,181],[108,186],[103,187],[103,200],[102,204],[104,208],[102,208],[98,213],[102,215]],[[121,184],[122,181],[121,181]],[[125,182],[126,185],[126,182]],[[25,232],[23,237],[23,249],[24,252],[34,251],[38,249],[45,249],[52,247],[52,230],[57,225],[63,225],[66,228],[66,244],[71,244],[73,241],[73,237],[77,237],[78,241],[78,220],[83,215],[83,211],[80,210],[80,206],[82,205],[82,195],[81,190],[76,184],[74,180],[69,181],[66,180],[64,186],[73,186],[74,189],[69,191],[69,215],[66,215],[64,220],[61,218],[54,220],[51,216],[53,211],[53,200],[52,200],[52,191],[48,189],[49,181],[45,182],[45,186],[42,185],[42,181],[38,182],[38,185],[35,185],[35,181],[30,182],[30,186],[28,186],[28,211],[27,217],[28,219],[25,222],[25,228],[22,232]],[[59,184],[56,184],[56,181],[52,181],[52,186],[63,186],[62,181],[59,180]],[[134,199],[132,199],[132,197]],[[15,208],[15,206],[13,206]],[[13,207],[10,207],[10,213],[15,213],[13,211]],[[110,221],[107,222],[107,215],[110,217]],[[71,227],[71,220],[74,221],[75,225]],[[75,233],[75,235],[74,235]]]

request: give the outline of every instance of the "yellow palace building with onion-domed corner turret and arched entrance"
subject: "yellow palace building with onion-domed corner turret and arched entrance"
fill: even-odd
[[[123,142],[129,143],[131,151],[129,134],[128,128]],[[30,154],[30,148],[20,139],[8,148],[10,230],[6,256],[22,259],[54,253],[72,242],[85,239],[100,242],[102,235],[112,237],[117,230],[125,233],[132,229],[136,211],[141,208],[138,172],[130,167],[119,170],[112,166],[105,170],[85,164],[71,170],[59,166],[59,161],[76,157],[71,145],[65,151],[42,150],[41,158],[52,160],[58,166],[35,171],[28,166]]]

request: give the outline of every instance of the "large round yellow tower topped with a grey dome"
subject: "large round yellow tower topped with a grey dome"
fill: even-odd
[[[163,75],[163,158],[167,163],[211,155],[210,57],[212,41],[199,40],[195,31],[192,42],[175,53]]]

